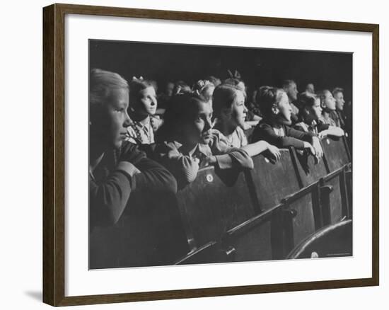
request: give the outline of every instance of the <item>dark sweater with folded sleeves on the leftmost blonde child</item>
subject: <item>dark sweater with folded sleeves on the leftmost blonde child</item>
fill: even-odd
[[[117,169],[120,161],[134,164],[141,173],[130,176]],[[135,144],[123,142],[120,149],[105,152],[93,176],[89,174],[90,228],[115,224],[134,192],[154,195],[176,191],[175,178],[166,168],[148,159]]]

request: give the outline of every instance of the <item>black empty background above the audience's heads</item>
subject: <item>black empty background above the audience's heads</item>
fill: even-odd
[[[352,101],[352,53],[110,40],[89,43],[91,69],[115,71],[127,80],[132,76],[153,79],[160,90],[167,81],[184,80],[191,86],[208,75],[226,79],[227,69],[237,69],[249,91],[293,79],[298,91],[304,91],[308,83],[315,85],[315,91],[342,87],[346,102]]]

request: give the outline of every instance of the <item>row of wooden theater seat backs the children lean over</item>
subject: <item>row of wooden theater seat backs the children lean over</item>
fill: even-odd
[[[322,145],[319,163],[291,148],[275,164],[256,156],[252,171],[199,171],[178,193],[191,252],[176,263],[286,258],[323,227],[351,219],[347,144],[325,138]]]

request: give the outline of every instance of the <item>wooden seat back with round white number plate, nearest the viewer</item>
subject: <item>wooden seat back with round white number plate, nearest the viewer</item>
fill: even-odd
[[[234,169],[200,169],[196,180],[178,192],[177,201],[192,250],[219,241],[255,214],[245,172]]]

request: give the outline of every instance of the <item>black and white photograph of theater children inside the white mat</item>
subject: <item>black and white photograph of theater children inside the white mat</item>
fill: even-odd
[[[90,269],[353,255],[351,52],[88,44]]]

